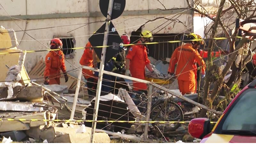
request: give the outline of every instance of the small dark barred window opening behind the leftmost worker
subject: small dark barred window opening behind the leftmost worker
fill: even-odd
[[[74,52],[75,52],[75,49],[72,49],[74,48],[75,46],[75,39],[74,38],[62,38],[60,39],[62,41],[62,51],[65,55],[65,58],[68,59],[68,58],[74,58]]]

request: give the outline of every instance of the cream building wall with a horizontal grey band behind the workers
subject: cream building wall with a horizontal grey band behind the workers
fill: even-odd
[[[179,34],[193,31],[193,11],[187,10],[186,0],[126,0],[126,8],[122,16],[113,20],[119,34],[136,31],[142,24],[144,29],[153,34]],[[192,0],[190,0],[192,3]],[[0,0],[9,15],[0,7],[0,23],[6,29],[13,28],[16,31],[20,49],[41,50],[49,48],[49,41],[54,37],[75,37],[75,47],[84,47],[90,35],[98,30],[104,23],[93,23],[87,26],[85,23],[104,21],[106,18],[101,14],[99,0]],[[174,9],[171,9],[174,8]],[[158,18],[159,17],[159,18]],[[22,19],[22,20],[20,20]],[[156,21],[150,21],[150,20]],[[167,22],[166,22],[167,21]],[[164,24],[163,24],[164,23]],[[80,24],[80,25],[72,25]],[[18,26],[17,26],[18,25]],[[59,27],[63,25],[70,25]],[[55,27],[58,26],[58,27]],[[37,28],[39,30],[26,31]],[[55,28],[47,28],[55,27]],[[74,31],[72,31],[74,30]],[[70,33],[67,33],[72,31]],[[34,39],[37,41],[35,41]],[[27,53],[25,68],[29,72],[36,63],[45,58],[47,52]],[[66,62],[67,70],[79,67],[79,60],[83,49],[75,50],[74,58]],[[73,72],[71,75],[76,76]]]

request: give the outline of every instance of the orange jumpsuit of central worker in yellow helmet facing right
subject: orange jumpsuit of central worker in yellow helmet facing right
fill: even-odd
[[[140,44],[141,42],[138,42]],[[127,54],[127,59],[130,59],[129,70],[130,74],[134,78],[145,79],[145,66],[150,64],[147,57],[146,47],[143,45],[132,46]],[[147,85],[133,81],[133,90],[147,90]]]

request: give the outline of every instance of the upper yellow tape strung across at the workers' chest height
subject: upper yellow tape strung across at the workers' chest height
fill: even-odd
[[[233,39],[233,38],[239,38],[241,39],[242,37],[230,37],[230,38],[213,38],[213,39],[200,39],[200,40],[183,40],[183,41],[166,41],[166,42],[152,42],[152,43],[145,43],[145,45],[155,45],[155,44],[163,44],[163,43],[180,43],[180,42],[191,42],[191,41],[206,41],[206,40],[227,40],[227,39]],[[135,46],[135,45],[143,45],[143,44],[128,44],[128,45],[115,45],[125,47],[125,46]],[[113,46],[97,46],[97,47],[88,47],[88,48],[104,48],[104,47],[114,47]],[[84,49],[86,47],[80,47],[80,48],[64,48],[64,49]],[[64,50],[63,49],[63,50]],[[45,49],[45,50],[24,50],[24,51],[19,51],[19,52],[0,52],[0,54],[9,54],[9,53],[31,53],[31,52],[42,52],[42,51],[57,51],[60,49]]]

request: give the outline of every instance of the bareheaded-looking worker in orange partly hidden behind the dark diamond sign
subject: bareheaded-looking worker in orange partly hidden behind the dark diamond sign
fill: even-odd
[[[88,42],[85,46],[84,53],[80,59],[80,64],[84,66],[94,67],[93,64],[93,48],[90,42]],[[83,76],[87,80],[87,88],[89,96],[96,96],[97,90],[97,79],[94,78],[94,71],[82,69]]]

